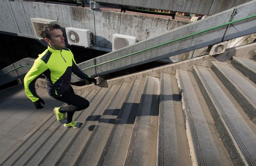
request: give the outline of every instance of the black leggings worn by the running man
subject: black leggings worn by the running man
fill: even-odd
[[[72,117],[75,111],[81,111],[89,107],[89,101],[75,94],[71,86],[69,86],[69,89],[65,91],[61,96],[56,97],[55,99],[58,101],[66,102],[68,104],[68,106],[62,106],[59,109],[59,112],[61,113],[67,112],[67,123],[72,121]]]

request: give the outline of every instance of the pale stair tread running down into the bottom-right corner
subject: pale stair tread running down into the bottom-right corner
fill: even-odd
[[[247,157],[251,157],[253,162],[256,162],[256,126],[252,121],[244,119],[226,93],[219,87],[209,69],[195,66],[195,70],[238,147],[244,151],[244,154],[246,151]]]

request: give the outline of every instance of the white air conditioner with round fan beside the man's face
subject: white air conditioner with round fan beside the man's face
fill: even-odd
[[[91,46],[91,31],[88,29],[68,27],[66,34],[69,45]]]

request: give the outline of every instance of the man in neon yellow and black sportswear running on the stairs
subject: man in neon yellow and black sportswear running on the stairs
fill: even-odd
[[[57,120],[64,122],[67,113],[67,122],[64,126],[80,128],[82,123],[72,121],[72,117],[75,111],[89,107],[89,101],[74,93],[70,86],[71,73],[73,72],[95,85],[96,79],[90,78],[79,69],[72,52],[65,47],[65,38],[58,24],[45,24],[39,29],[39,32],[48,43],[48,48],[35,60],[34,65],[24,78],[26,95],[33,101],[37,109],[43,108],[41,103],[45,103],[36,93],[35,81],[39,75],[45,75],[49,95],[68,104],[68,106],[54,108]]]

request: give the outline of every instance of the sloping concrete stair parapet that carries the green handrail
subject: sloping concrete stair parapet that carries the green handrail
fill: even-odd
[[[244,18],[250,15],[255,15],[256,0],[252,0],[246,4],[240,5],[236,7],[236,9],[236,15],[233,17],[233,20]],[[226,11],[199,20],[197,22],[170,30],[169,32],[158,37],[141,41],[132,46],[127,46],[106,55],[102,55],[84,63],[81,63],[79,64],[79,67],[81,69],[84,69],[89,66],[98,65],[109,60],[116,59],[123,55],[129,55],[148,47],[156,46],[158,44],[165,43],[179,37],[185,37],[192,33],[196,33],[202,30],[206,30],[208,28],[227,23],[229,22],[233,11],[234,9],[228,9]],[[99,65],[97,67],[86,70],[85,73],[88,73],[89,75],[109,74],[129,67],[156,61],[165,57],[182,54],[191,50],[203,48],[205,46],[214,45],[232,38],[253,34],[256,33],[255,25],[256,18],[247,19],[245,21],[232,24],[232,26],[218,28],[216,30],[205,32],[194,37],[189,37],[174,43],[159,46],[145,52],[139,52],[138,54],[128,56],[123,59],[118,59],[107,64]],[[76,79],[78,78],[73,77],[73,80]]]

